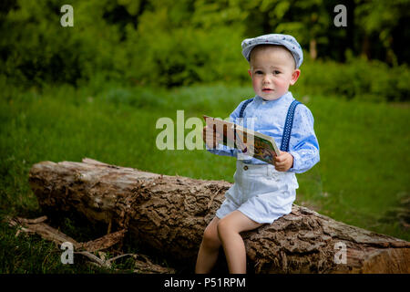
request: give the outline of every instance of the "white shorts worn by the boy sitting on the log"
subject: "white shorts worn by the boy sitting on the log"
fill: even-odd
[[[260,224],[289,214],[299,187],[293,172],[278,172],[272,164],[247,164],[237,161],[235,183],[225,193],[225,201],[216,212],[223,218],[238,210]]]

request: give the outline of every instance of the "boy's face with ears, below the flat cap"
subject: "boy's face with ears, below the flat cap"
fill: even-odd
[[[284,47],[258,46],[251,51],[253,90],[262,99],[279,99],[296,83],[301,70],[294,68],[292,53]]]

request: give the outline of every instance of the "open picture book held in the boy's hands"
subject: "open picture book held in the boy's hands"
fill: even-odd
[[[207,126],[222,137],[223,145],[241,150],[263,162],[274,164],[274,157],[280,155],[278,146],[271,136],[241,127],[230,121],[203,116]]]

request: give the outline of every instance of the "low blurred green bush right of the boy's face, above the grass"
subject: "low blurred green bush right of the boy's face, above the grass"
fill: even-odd
[[[298,87],[307,94],[373,101],[410,99],[410,77],[405,65],[389,68],[379,61],[352,58],[346,64],[309,61],[302,65]]]

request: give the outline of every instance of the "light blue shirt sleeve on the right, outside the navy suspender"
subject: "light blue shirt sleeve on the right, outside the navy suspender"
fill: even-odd
[[[293,166],[289,172],[307,172],[320,161],[319,142],[313,130],[313,123],[311,110],[305,105],[299,105],[295,110],[289,145],[289,152],[293,156]]]

